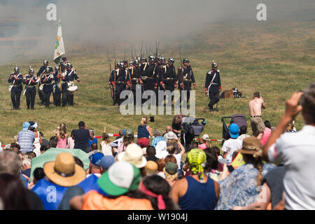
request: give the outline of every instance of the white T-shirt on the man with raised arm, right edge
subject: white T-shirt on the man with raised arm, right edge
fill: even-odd
[[[268,149],[270,162],[284,165],[285,207],[315,209],[315,127],[305,125],[300,132],[282,134]]]

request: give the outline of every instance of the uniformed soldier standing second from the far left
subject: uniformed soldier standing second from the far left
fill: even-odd
[[[23,78],[23,83],[25,84],[25,97],[27,101],[27,109],[31,106],[34,109],[35,97],[36,97],[36,76],[34,76],[34,69],[29,68],[29,74]]]

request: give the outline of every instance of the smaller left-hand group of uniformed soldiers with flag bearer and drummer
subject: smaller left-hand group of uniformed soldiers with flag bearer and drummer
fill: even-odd
[[[22,94],[22,84],[25,84],[23,95],[26,96],[27,109],[34,109],[36,97],[36,84],[38,83],[38,97],[40,105],[49,107],[50,95],[53,95],[53,103],[55,106],[73,106],[73,93],[68,91],[68,83],[76,80],[80,82],[80,78],[76,74],[70,62],[66,62],[66,57],[62,57],[60,62],[53,71],[52,66],[48,65],[48,60],[43,61],[43,66],[34,75],[34,69],[29,67],[29,73],[23,78],[18,66],[15,66],[14,72],[10,74],[8,83],[10,83],[11,101],[13,110],[20,109],[20,97]],[[60,80],[61,79],[61,80]],[[60,91],[60,84],[61,91]]]

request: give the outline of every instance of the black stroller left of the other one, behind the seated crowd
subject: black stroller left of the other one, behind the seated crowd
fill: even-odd
[[[193,118],[190,116],[183,118],[181,121],[181,142],[186,152],[190,151],[190,145],[195,137],[200,137],[204,130],[204,125],[206,125],[206,119],[204,118]]]

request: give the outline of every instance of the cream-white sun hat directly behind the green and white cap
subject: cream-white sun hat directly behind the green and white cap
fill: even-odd
[[[146,165],[146,158],[142,149],[137,144],[130,144],[126,151],[118,153],[118,161],[127,161],[135,165],[137,168],[142,168]]]

